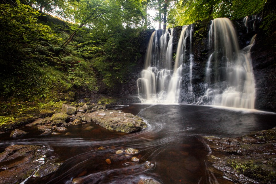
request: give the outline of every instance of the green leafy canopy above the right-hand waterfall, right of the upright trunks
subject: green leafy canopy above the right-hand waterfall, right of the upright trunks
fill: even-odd
[[[239,19],[262,11],[266,0],[181,0],[168,12],[169,27],[188,25],[196,20],[228,17]]]

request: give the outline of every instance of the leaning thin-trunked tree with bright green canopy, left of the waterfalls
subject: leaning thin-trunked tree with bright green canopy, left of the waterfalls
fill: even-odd
[[[126,26],[130,24],[135,25],[142,14],[141,1],[135,0],[115,0],[112,2],[104,0],[80,0],[70,6],[73,8],[68,9],[65,13],[71,15],[68,17],[71,17],[79,25],[61,47],[66,47],[72,41],[77,31],[84,25],[95,27],[98,22],[102,21],[112,22],[113,25],[114,23],[119,23],[120,25],[125,23]],[[122,19],[128,20],[128,22],[123,22]],[[105,26],[108,28],[109,24],[105,24]]]

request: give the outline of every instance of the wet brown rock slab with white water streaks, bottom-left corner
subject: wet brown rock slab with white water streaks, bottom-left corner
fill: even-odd
[[[55,172],[61,163],[50,159],[53,151],[45,146],[13,145],[0,154],[0,183],[21,183],[34,175],[43,177]],[[31,179],[31,178],[30,178]]]

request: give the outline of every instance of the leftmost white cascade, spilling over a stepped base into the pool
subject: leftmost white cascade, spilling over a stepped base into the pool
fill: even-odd
[[[173,29],[158,31],[150,37],[144,69],[137,80],[139,99],[142,103],[177,103],[178,98],[169,91],[173,78]]]

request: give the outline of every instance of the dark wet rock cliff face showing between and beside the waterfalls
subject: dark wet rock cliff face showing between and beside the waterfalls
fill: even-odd
[[[265,30],[267,20],[270,18],[268,15],[275,14],[275,5],[271,0],[267,1],[263,13],[256,22],[256,31],[252,31],[244,26],[241,20],[232,21],[237,31],[240,49],[243,49],[250,44],[251,38],[256,34],[256,41],[251,48],[252,66],[254,70],[254,77],[256,80],[256,103],[255,108],[258,110],[276,111],[276,24],[270,22],[269,32]],[[198,98],[204,95],[205,92],[205,76],[206,76],[206,63],[209,56],[208,50],[208,31],[210,29],[211,20],[196,21],[190,26],[193,27],[193,40],[192,40],[192,52],[194,55],[194,64],[192,72],[192,84],[194,97],[191,97],[188,93],[187,83],[189,81],[189,63],[186,62],[183,66],[183,78],[182,89],[180,92],[180,102],[185,104],[192,104],[197,102]],[[176,53],[177,43],[181,34],[182,26],[174,28],[173,39],[173,54]],[[152,31],[151,31],[152,32]],[[142,57],[137,65],[137,70],[130,77],[127,84],[120,87],[121,103],[139,103],[139,99],[128,98],[127,96],[135,96],[137,94],[136,80],[140,76],[140,72],[143,69],[143,63],[145,60],[145,53],[147,50],[147,43],[150,38],[150,33],[144,39],[144,42],[140,46],[140,53]],[[189,46],[188,46],[189,47]],[[189,48],[188,48],[189,49]],[[187,53],[188,54],[188,53]],[[174,64],[174,62],[172,63]]]

